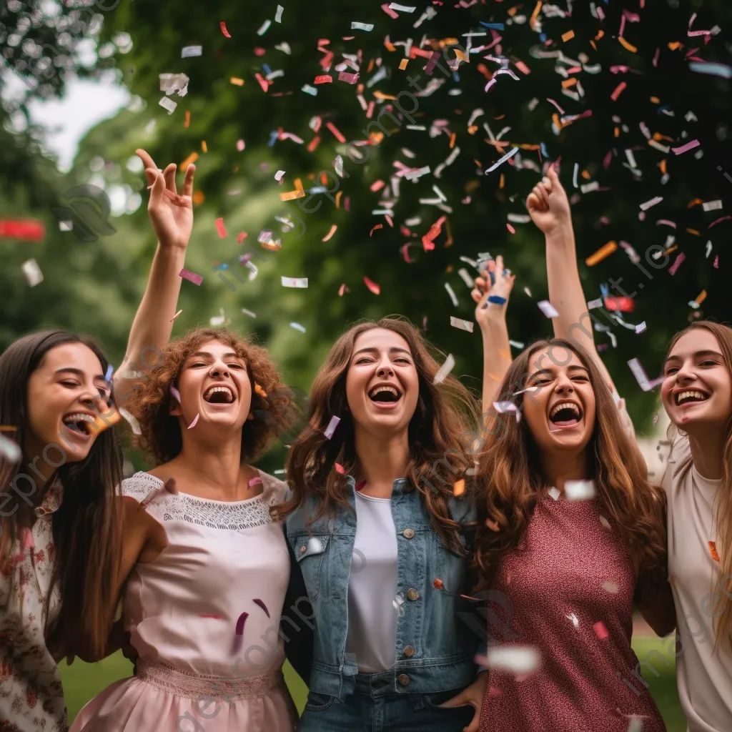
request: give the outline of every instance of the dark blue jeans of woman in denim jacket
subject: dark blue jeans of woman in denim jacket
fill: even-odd
[[[297,732],[463,732],[473,707],[438,708],[461,691],[398,694],[384,686],[378,673],[359,673],[356,693],[346,701],[310,692]]]

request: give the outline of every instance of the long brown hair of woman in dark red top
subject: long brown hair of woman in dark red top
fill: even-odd
[[[541,340],[526,348],[509,367],[501,394],[523,389],[530,360],[537,351],[561,346],[575,353],[589,373],[597,403],[594,430],[588,445],[591,479],[597,498],[630,546],[637,571],[653,572],[665,562],[665,501],[635,460],[628,460],[631,445],[624,433],[618,409],[605,380],[583,348],[562,338]],[[512,398],[523,409],[526,395]],[[530,395],[529,395],[529,398]],[[480,459],[477,481],[477,550],[475,569],[478,590],[487,589],[501,557],[513,550],[529,526],[537,498],[547,488],[539,454],[526,420],[518,422],[508,412],[488,437]]]

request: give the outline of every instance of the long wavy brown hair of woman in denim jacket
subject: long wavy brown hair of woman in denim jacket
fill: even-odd
[[[357,324],[334,343],[313,381],[308,426],[288,452],[285,467],[292,498],[273,507],[273,515],[283,518],[303,506],[309,497],[316,499],[310,523],[339,508],[351,509],[346,498],[346,475],[358,472],[359,460],[354,423],[348,411],[346,373],[356,338],[375,328],[391,330],[408,343],[419,377],[419,398],[408,427],[410,459],[406,478],[422,494],[436,533],[450,548],[461,551],[460,527],[450,518],[447,501],[453,496],[455,482],[463,479],[473,464],[471,440],[466,440],[466,435],[478,438],[471,432],[478,410],[474,398],[457,378],[448,376],[441,384],[433,384],[439,364],[417,328],[405,319],[382,318]],[[334,415],[340,417],[340,424],[332,438],[326,439],[324,430]],[[449,458],[457,463],[455,468]],[[335,471],[335,463],[343,466],[346,475]]]

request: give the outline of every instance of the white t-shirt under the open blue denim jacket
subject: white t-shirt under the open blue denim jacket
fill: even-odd
[[[346,652],[359,673],[378,673],[396,661],[397,530],[391,498],[356,491],[356,537],[348,580]]]

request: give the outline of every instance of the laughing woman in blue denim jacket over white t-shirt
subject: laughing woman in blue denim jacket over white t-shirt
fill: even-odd
[[[315,377],[275,509],[314,608],[299,732],[477,731],[485,673],[461,597],[474,403],[437,373],[417,329],[384,318],[342,335]]]

